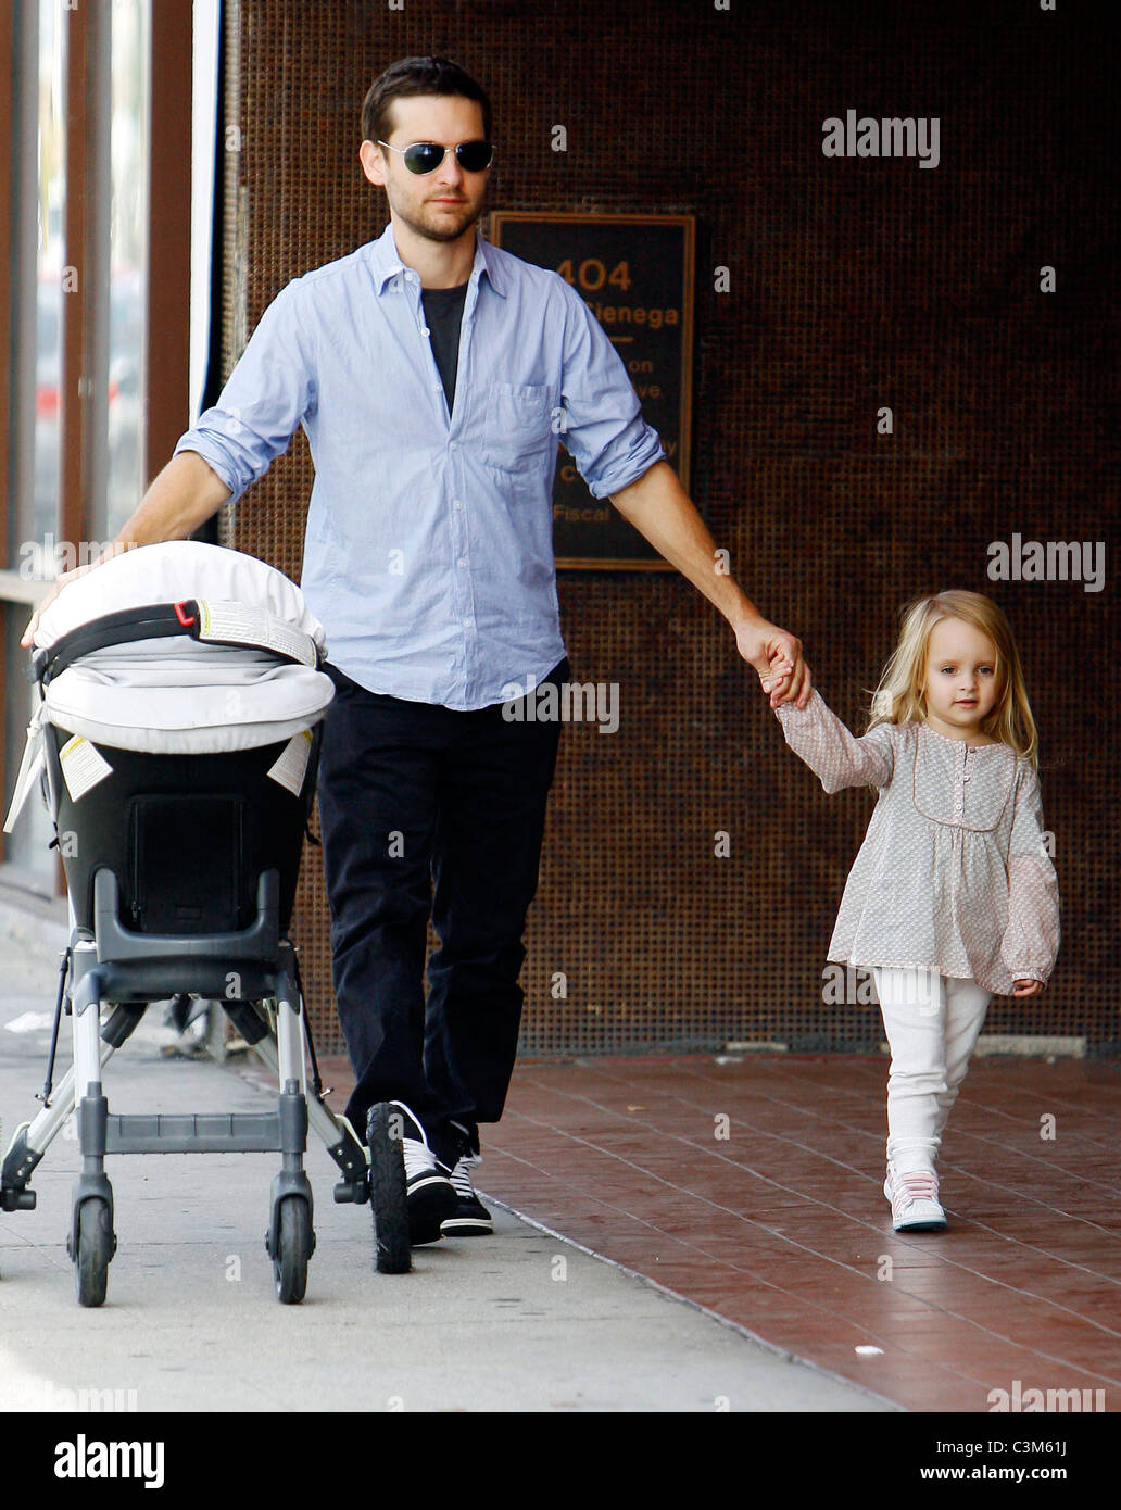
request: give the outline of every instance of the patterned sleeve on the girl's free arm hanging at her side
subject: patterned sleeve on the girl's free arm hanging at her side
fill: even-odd
[[[1008,927],[1000,944],[1012,978],[1047,985],[1059,936],[1059,879],[1047,853],[1039,778],[1021,763],[1008,846]]]

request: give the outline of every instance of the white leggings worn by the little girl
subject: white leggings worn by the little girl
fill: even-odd
[[[932,1170],[991,997],[937,971],[878,965],[872,974],[891,1048],[887,1157],[900,1173]]]

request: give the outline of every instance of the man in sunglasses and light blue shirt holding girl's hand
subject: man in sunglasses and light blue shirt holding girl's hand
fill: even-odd
[[[502,705],[512,683],[568,672],[557,433],[592,494],[724,615],[772,704],[810,693],[799,642],[716,572],[712,536],[583,299],[479,236],[489,128],[486,95],[446,59],[405,59],[375,82],[358,156],[390,225],[281,290],[115,542],[190,535],[307,430],[302,587],[337,689],[319,805],[357,1077],[347,1116],[364,1128],[375,1102],[402,1105],[412,1243],[491,1231],[470,1169],[514,1069],[559,738],[559,723],[511,720]],[[429,915],[440,948],[426,1003]]]

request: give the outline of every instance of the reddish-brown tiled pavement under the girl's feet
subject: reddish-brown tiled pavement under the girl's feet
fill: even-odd
[[[341,1107],[349,1069],[323,1069]],[[950,1228],[911,1237],[882,1194],[884,1086],[848,1055],[523,1062],[476,1184],[908,1409],[988,1410],[1017,1379],[1121,1409],[1121,1065],[974,1062]]]

